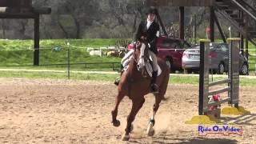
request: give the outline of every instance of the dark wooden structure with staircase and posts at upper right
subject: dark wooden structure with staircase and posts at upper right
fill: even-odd
[[[246,38],[246,58],[248,58],[248,41],[256,46],[256,28],[249,26],[250,21],[256,22],[256,8],[250,6],[245,0],[146,0],[146,4],[147,6],[179,6],[179,38],[181,39],[184,39],[184,6],[207,6],[210,12],[211,42],[214,42],[214,23],[218,26],[223,42],[226,42],[215,14],[218,12],[240,32],[242,53],[243,39]]]

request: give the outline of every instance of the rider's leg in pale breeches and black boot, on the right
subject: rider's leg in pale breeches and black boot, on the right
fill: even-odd
[[[156,55],[152,51],[149,50],[149,54],[153,61],[153,70],[154,70],[152,73],[152,79],[150,82],[150,91],[155,93],[155,92],[158,92],[158,85],[156,84],[157,78],[158,78],[158,60]]]

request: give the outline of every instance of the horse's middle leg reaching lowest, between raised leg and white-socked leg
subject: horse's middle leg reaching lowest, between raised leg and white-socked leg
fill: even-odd
[[[135,97],[136,98],[136,97]],[[138,97],[137,97],[138,98]],[[123,141],[128,141],[130,139],[130,132],[132,130],[132,122],[134,122],[136,114],[138,114],[138,110],[140,110],[145,102],[145,98],[133,100],[133,106],[130,110],[130,114],[127,117],[127,125],[126,125],[126,133],[122,135]]]

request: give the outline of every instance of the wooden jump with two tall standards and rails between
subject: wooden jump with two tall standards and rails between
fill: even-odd
[[[230,106],[238,108],[239,101],[239,38],[230,38],[229,42],[229,72],[228,78],[215,82],[209,82],[209,53],[210,41],[200,42],[200,77],[199,77],[199,115],[207,115],[210,106],[218,106],[221,103],[228,102]],[[228,86],[218,90],[209,90],[210,86],[218,86],[227,83]],[[209,102],[208,97],[214,94],[228,92],[228,97],[218,102]]]

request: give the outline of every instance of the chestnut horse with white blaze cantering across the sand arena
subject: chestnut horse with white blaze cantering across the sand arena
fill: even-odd
[[[147,43],[145,43],[147,46]],[[128,96],[132,101],[132,109],[130,114],[127,117],[127,125],[125,134],[122,135],[123,141],[128,141],[130,138],[130,132],[133,129],[132,122],[134,122],[134,118],[138,113],[138,110],[142,108],[143,103],[145,102],[144,96],[150,93],[150,80],[151,78],[147,76],[146,78],[143,76],[142,71],[138,70],[137,63],[140,57],[140,47],[142,44],[136,46],[134,52],[134,58],[131,59],[129,63],[128,70],[124,71],[122,77],[120,78],[120,82],[118,84],[118,95],[115,97],[115,106],[114,110],[111,111],[112,114],[112,123],[114,126],[120,126],[120,122],[117,119],[118,115],[118,105],[122,101],[124,96]],[[154,93],[155,103],[153,106],[153,114],[150,118],[149,126],[147,129],[148,135],[153,135],[154,132],[154,115],[156,114],[159,104],[164,98],[166,94],[166,88],[168,86],[170,67],[166,65],[166,62],[162,59],[158,58],[158,65],[161,67],[162,74],[160,74],[157,78],[158,84],[158,93]]]

